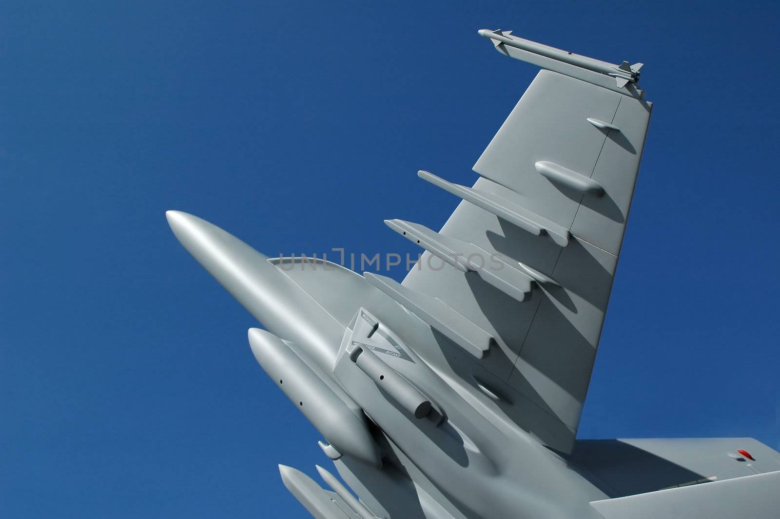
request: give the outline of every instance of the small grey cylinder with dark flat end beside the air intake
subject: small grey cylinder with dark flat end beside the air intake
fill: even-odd
[[[425,418],[431,412],[431,401],[373,351],[358,346],[349,354],[349,359],[414,418]]]

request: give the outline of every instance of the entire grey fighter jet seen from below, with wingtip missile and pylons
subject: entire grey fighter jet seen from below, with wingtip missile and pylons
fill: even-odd
[[[472,187],[419,172],[461,199],[438,232],[385,222],[425,251],[402,283],[167,213],[351,490],[320,466],[326,488],[285,486],[317,519],[780,517],[754,439],[576,439],[652,104],[640,63],[479,34],[542,70]]]

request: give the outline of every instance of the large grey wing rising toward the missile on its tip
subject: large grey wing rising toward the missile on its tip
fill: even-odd
[[[636,90],[542,70],[474,165],[473,187],[420,172],[463,201],[438,233],[427,233],[452,242],[451,251],[423,241],[427,251],[402,285],[441,300],[495,341],[481,360],[445,343],[438,364],[523,400],[512,419],[541,439],[555,427],[529,407],[560,421],[570,439],[580,421],[651,108]],[[445,254],[470,265],[452,266]],[[490,283],[480,268],[505,284]],[[521,299],[528,279],[532,290]]]

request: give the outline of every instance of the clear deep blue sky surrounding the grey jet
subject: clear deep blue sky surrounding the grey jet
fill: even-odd
[[[483,27],[656,103],[580,436],[780,447],[775,2],[125,3],[0,7],[3,517],[308,517],[319,435],[164,212],[413,251],[382,219],[440,226],[417,169],[474,180],[536,73]]]

